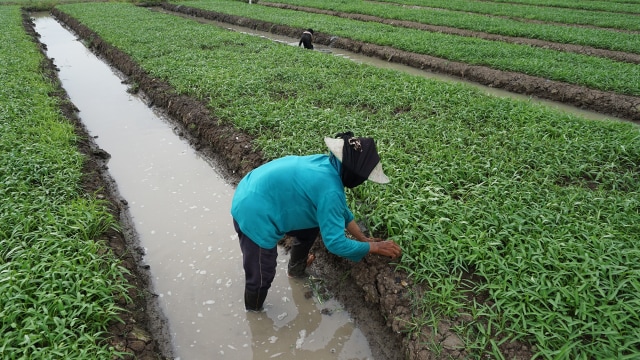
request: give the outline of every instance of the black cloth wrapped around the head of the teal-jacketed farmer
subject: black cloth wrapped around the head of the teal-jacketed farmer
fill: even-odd
[[[354,188],[362,184],[380,162],[376,144],[371,138],[356,138],[352,132],[336,135],[344,140],[342,148],[342,184]]]

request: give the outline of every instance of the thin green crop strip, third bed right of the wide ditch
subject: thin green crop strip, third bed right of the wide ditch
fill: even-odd
[[[521,19],[487,16],[446,9],[428,7],[407,8],[394,4],[360,0],[349,2],[330,0],[278,0],[273,2],[640,54],[638,34],[609,29],[569,27],[561,24],[541,24],[526,22]],[[611,14],[607,14],[606,16],[611,16]]]

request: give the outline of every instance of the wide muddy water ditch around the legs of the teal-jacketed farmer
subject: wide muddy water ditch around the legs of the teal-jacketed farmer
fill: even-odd
[[[307,298],[308,284],[287,278],[283,254],[266,311],[245,312],[233,187],[74,35],[47,16],[35,25],[83,123],[112,156],[177,358],[373,358],[339,303]]]

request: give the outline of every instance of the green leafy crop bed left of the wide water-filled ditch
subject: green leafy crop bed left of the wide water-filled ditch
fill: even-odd
[[[115,222],[81,188],[73,125],[20,8],[0,6],[0,23],[0,357],[108,359],[127,288],[94,240]]]

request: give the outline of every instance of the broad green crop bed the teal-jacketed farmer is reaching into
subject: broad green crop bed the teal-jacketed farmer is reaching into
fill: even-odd
[[[372,231],[402,245],[398,266],[429,286],[414,306],[431,312],[405,331],[467,313],[458,331],[478,357],[500,356],[496,334],[534,343],[545,358],[637,354],[637,126],[129,4],[59,9],[251,134],[266,160],[326,152],[322,136],[344,130],[376,138],[392,182],[348,196]],[[489,302],[465,301],[465,273],[483,279],[465,286]]]

